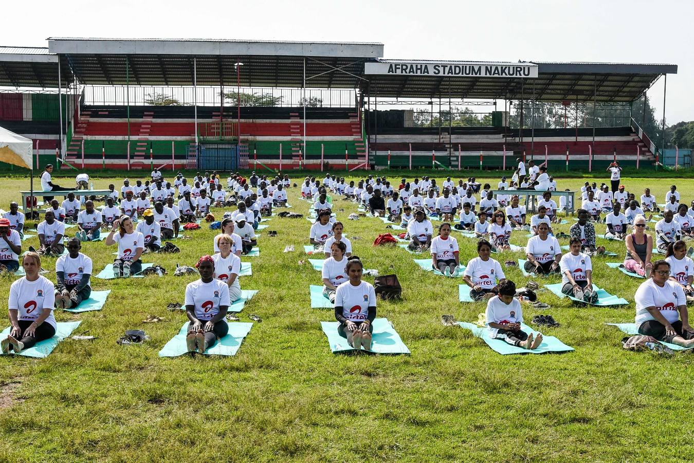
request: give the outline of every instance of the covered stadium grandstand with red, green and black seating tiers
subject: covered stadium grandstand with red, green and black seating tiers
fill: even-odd
[[[632,106],[677,65],[388,60],[383,48],[60,37],[0,47],[0,126],[33,140],[37,167],[661,163]]]

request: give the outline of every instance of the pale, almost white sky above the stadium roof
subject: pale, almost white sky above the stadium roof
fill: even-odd
[[[678,65],[666,121],[694,120],[691,0],[3,2],[0,45],[47,37],[381,42],[384,58]],[[19,20],[24,18],[24,20]],[[648,91],[656,117],[663,79]]]

